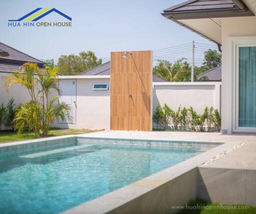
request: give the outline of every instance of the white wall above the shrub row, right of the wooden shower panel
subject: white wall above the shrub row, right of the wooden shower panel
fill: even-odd
[[[221,82],[153,82],[153,110],[166,103],[171,109],[193,107],[201,114],[206,106],[220,111]]]

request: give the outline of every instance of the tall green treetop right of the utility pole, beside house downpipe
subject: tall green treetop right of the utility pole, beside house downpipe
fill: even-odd
[[[218,53],[216,50],[208,49],[204,52],[204,60],[202,65],[205,65],[207,69],[221,65],[221,53]]]

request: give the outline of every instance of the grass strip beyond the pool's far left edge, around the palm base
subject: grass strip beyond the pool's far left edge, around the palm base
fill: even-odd
[[[98,132],[102,130],[89,130],[89,129],[50,129],[48,137],[53,136],[62,136],[62,135],[76,135],[76,134],[83,134],[89,132]],[[14,141],[24,141],[24,140],[31,140],[35,139],[35,136],[32,132],[24,132],[18,135],[15,132],[0,132],[0,143],[9,143]]]

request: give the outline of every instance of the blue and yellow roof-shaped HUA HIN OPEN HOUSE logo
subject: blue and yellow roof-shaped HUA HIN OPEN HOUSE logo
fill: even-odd
[[[41,21],[40,19],[51,12],[56,12],[68,21]],[[8,20],[9,27],[71,27],[72,18],[55,8],[36,8],[18,19]]]

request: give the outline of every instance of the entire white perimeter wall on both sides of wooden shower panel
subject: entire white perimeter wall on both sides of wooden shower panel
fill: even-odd
[[[29,101],[26,89],[14,85],[6,92],[4,79],[7,74],[0,73],[0,104],[7,104],[13,97],[16,106]],[[109,83],[110,76],[59,76],[60,79],[76,79],[76,124],[58,124],[52,126],[71,129],[109,129],[110,126],[110,88],[109,90],[92,90],[92,83]],[[110,84],[109,84],[110,86]],[[152,105],[166,103],[176,110],[192,106],[201,114],[206,106],[220,110],[221,82],[153,82]],[[56,94],[55,94],[56,95]]]

